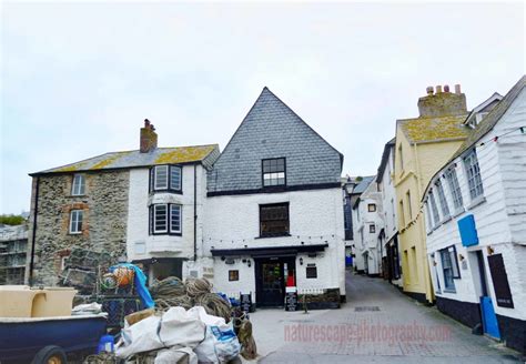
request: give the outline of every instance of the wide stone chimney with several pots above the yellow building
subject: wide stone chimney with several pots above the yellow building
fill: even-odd
[[[447,117],[462,115],[467,113],[466,95],[461,92],[461,85],[455,84],[455,93],[449,92],[449,87],[442,85],[426,89],[427,95],[418,99],[418,111],[421,117]]]

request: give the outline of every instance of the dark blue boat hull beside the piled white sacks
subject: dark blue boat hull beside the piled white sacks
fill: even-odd
[[[105,330],[107,318],[100,315],[0,318],[0,362],[30,362],[48,345],[60,346],[65,353],[94,353]]]

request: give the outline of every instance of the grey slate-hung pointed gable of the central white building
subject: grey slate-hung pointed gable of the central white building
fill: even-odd
[[[209,172],[209,194],[261,190],[262,160],[274,158],[285,158],[286,188],[341,185],[343,155],[264,88]]]

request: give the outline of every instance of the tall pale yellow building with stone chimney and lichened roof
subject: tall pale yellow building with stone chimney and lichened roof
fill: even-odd
[[[418,100],[419,117],[396,121],[394,185],[398,212],[399,254],[404,292],[433,302],[426,257],[426,230],[421,199],[431,178],[467,138],[466,97],[459,85],[427,88]]]

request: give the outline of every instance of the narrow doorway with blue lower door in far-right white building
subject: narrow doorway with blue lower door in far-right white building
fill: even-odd
[[[500,340],[497,315],[495,314],[495,309],[493,306],[492,297],[489,296],[487,287],[484,254],[482,251],[476,251],[469,254],[474,254],[474,259],[477,263],[475,265],[476,272],[474,270],[473,277],[475,280],[474,284],[477,287],[481,300],[481,316],[484,334]]]

